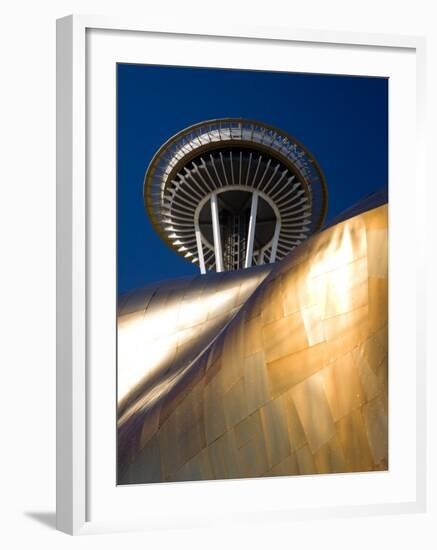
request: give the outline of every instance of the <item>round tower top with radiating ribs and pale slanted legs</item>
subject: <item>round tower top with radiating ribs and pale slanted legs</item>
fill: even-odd
[[[182,130],[144,179],[154,228],[201,273],[282,259],[322,226],[327,200],[323,173],[299,141],[238,118]]]

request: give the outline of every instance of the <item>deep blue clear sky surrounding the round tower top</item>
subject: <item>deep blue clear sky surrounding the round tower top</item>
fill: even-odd
[[[388,182],[388,80],[370,77],[119,64],[118,290],[198,268],[155,233],[143,180],[156,150],[202,120],[243,117],[277,126],[316,157],[327,221]]]

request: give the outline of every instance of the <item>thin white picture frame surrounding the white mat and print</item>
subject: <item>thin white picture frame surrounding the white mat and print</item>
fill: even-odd
[[[294,29],[251,28],[232,26],[223,28],[177,28],[143,24],[138,21],[112,19],[95,16],[74,15],[57,22],[57,528],[69,534],[83,534],[96,531],[147,529],[160,522],[177,522],[175,515],[164,516],[162,502],[173,499],[169,484],[153,487],[154,512],[151,515],[118,517],[109,513],[105,518],[94,520],[90,517],[89,487],[93,475],[93,457],[90,451],[89,411],[94,399],[90,392],[90,346],[92,337],[89,331],[90,315],[90,165],[87,143],[87,117],[92,101],[88,96],[87,80],[90,78],[90,63],[87,58],[87,34],[92,31],[126,33],[131,37],[135,31],[139,36],[158,37],[159,40],[172,40],[175,37],[197,37],[199,40],[217,39],[240,44],[314,44],[319,48],[335,45],[338,48],[360,48],[409,52],[415,59],[416,100],[408,108],[414,110],[415,121],[415,165],[414,193],[421,200],[426,199],[426,178],[424,162],[424,78],[425,40],[421,37],[322,32]],[[108,35],[109,36],[109,35]],[[112,40],[111,36],[109,39]],[[375,50],[376,51],[376,50]],[[177,63],[176,63],[177,64]],[[94,67],[94,65],[93,65]],[[115,148],[114,148],[115,150]],[[114,163],[115,165],[115,158]],[[95,204],[95,201],[93,202]],[[95,206],[93,206],[95,208]],[[401,210],[398,211],[398,213]],[[396,210],[390,213],[396,217]],[[416,232],[423,230],[425,221],[416,209],[412,213]],[[426,507],[426,400],[425,400],[425,252],[420,244],[414,252],[414,274],[416,285],[415,309],[415,422],[414,433],[414,487],[409,494],[413,497],[369,503],[355,502],[353,505],[336,504],[332,507],[321,503],[319,507],[307,508],[291,505],[288,508],[264,509],[262,506],[246,510],[245,518],[255,520],[263,513],[272,520],[275,517],[319,518],[344,515],[391,514],[400,512],[420,512]],[[411,326],[410,326],[411,328]],[[115,377],[115,372],[113,373]],[[94,390],[93,390],[94,391]],[[104,391],[102,389],[102,391]],[[112,397],[111,397],[112,398]],[[115,400],[115,394],[113,396]],[[115,427],[114,427],[115,430]],[[94,432],[95,433],[95,430]],[[115,455],[115,449],[114,449]],[[109,460],[109,459],[108,459]],[[326,476],[323,476],[326,478]],[[334,478],[336,483],[340,476]],[[301,480],[302,481],[302,480]],[[270,491],[278,490],[278,480],[272,480]],[[281,480],[279,480],[281,482]],[[337,481],[338,483],[339,481]],[[219,487],[220,498],[226,498],[230,488],[242,490],[240,482],[214,482]],[[239,484],[240,483],[240,484]],[[250,487],[245,481],[244,487]],[[251,481],[249,483],[256,483]],[[263,481],[264,483],[264,481]],[[181,485],[181,484],[179,484]],[[186,500],[191,491],[193,500],[205,498],[210,484],[186,484],[180,498]],[[143,487],[143,490],[145,488]],[[253,485],[250,490],[253,490]],[[249,493],[248,493],[249,494]],[[124,497],[126,496],[126,492]],[[118,497],[116,497],[118,498]],[[218,499],[217,506],[221,506]],[[160,504],[161,503],[161,504]],[[188,508],[190,504],[188,501]],[[219,509],[219,508],[218,508]],[[113,510],[116,510],[114,508]],[[180,523],[190,517],[190,510],[181,516]],[[114,512],[116,514],[116,512]],[[285,515],[284,515],[285,514]],[[194,515],[194,512],[193,512]],[[225,516],[226,517],[226,514]],[[220,518],[219,518],[220,519]],[[238,518],[237,518],[238,519]],[[189,519],[187,520],[189,521]],[[199,524],[196,520],[194,525]],[[202,523],[202,520],[200,521]]]

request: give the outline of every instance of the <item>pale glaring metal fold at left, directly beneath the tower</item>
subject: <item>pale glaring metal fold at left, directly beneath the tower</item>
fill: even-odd
[[[175,279],[137,289],[119,300],[118,407],[161,397],[210,345],[269,274],[262,266],[228,274]]]

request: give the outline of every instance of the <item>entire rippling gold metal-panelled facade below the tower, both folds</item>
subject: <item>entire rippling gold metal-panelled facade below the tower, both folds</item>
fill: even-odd
[[[119,375],[136,374],[120,402],[119,483],[387,469],[387,206],[271,268],[258,286],[233,279],[254,268],[199,277],[186,305],[190,283],[158,290],[154,314],[152,291],[122,306]]]

